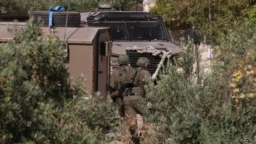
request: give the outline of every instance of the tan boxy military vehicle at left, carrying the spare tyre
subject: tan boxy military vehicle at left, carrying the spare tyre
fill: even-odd
[[[40,12],[47,15],[47,12]],[[49,12],[48,12],[49,15]],[[62,13],[65,15],[65,13]],[[73,14],[75,15],[75,14]],[[77,13],[80,19],[80,14]],[[54,16],[58,18],[59,15]],[[65,19],[66,20],[66,19]],[[22,28],[26,23],[15,23],[18,28]],[[68,68],[71,76],[80,76],[84,74],[87,82],[86,90],[89,94],[101,92],[103,96],[107,96],[108,85],[110,82],[110,56],[112,54],[112,42],[110,41],[110,28],[101,27],[75,27],[72,23],[72,17],[69,18],[66,28],[66,36],[64,40],[65,23],[55,21],[58,27],[52,28],[48,26],[40,27],[46,34],[51,33],[65,42],[67,50],[67,60],[65,67]],[[8,32],[7,28],[12,28],[14,22],[0,22],[0,42],[5,43],[13,39],[13,35]],[[46,24],[47,25],[47,24]]]

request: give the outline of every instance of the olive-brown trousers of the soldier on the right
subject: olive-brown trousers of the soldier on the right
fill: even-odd
[[[140,114],[141,116],[144,114],[142,108],[138,104],[141,102],[138,99],[138,96],[135,94],[126,94],[124,95],[124,108],[125,115],[136,116],[136,114]]]

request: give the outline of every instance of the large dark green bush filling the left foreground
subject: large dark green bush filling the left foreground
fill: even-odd
[[[89,100],[84,78],[70,78],[60,41],[45,36],[30,19],[12,27],[14,41],[0,45],[0,143],[103,144],[108,117],[117,112],[111,100]],[[61,86],[58,87],[57,84]]]

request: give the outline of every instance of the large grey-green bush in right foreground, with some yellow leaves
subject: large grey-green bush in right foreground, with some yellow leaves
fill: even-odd
[[[212,62],[211,71],[200,70],[196,80],[192,42],[182,46],[184,72],[177,73],[178,66],[168,65],[158,85],[146,86],[144,120],[155,124],[157,133],[151,143],[256,142],[255,30],[245,22],[223,34],[218,48],[223,53]]]

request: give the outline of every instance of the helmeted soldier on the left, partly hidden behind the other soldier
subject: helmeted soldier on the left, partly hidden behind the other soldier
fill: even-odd
[[[118,94],[120,89],[120,82],[126,76],[126,72],[129,71],[132,67],[129,66],[129,56],[127,54],[121,54],[118,56],[118,68],[113,70],[111,80],[110,80],[110,96],[114,103],[118,105],[120,110],[120,116],[124,116],[124,103],[122,96]]]

